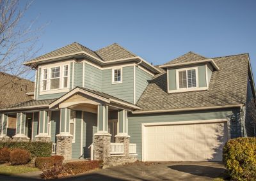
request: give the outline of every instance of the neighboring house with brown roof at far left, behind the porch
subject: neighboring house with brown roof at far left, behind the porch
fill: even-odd
[[[8,73],[0,72],[0,109],[13,104],[32,100],[34,89],[34,82]],[[16,115],[9,114],[8,127],[6,127],[6,132],[4,134],[12,137],[15,135],[15,130]]]

